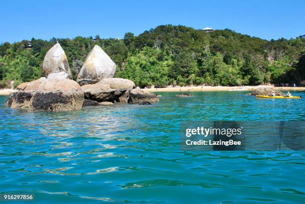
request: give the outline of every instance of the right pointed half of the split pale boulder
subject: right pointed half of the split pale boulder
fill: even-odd
[[[78,74],[77,82],[81,86],[95,84],[102,79],[112,78],[115,72],[116,64],[100,46],[95,45]]]

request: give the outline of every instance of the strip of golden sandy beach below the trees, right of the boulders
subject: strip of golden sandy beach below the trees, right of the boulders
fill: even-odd
[[[215,92],[215,91],[252,91],[252,89],[257,89],[257,88],[270,88],[274,90],[283,90],[283,91],[305,91],[305,87],[275,87],[272,85],[243,86],[243,87],[189,86],[189,87],[149,88],[149,89],[141,89],[141,90],[145,92]]]

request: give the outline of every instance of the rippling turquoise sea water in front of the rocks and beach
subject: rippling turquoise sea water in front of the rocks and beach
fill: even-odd
[[[304,203],[305,151],[180,149],[182,121],[305,120],[304,99],[246,93],[158,93],[150,106],[72,112],[11,109],[0,96],[0,193],[52,204]]]

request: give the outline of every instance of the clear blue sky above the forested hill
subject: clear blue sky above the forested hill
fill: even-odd
[[[96,34],[123,38],[162,24],[289,39],[305,34],[305,0],[0,1],[0,42]]]

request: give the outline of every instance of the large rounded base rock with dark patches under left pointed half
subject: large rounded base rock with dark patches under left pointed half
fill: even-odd
[[[44,77],[20,84],[18,92],[11,94],[6,105],[32,111],[79,110],[83,106],[84,93],[80,86],[69,79]]]

